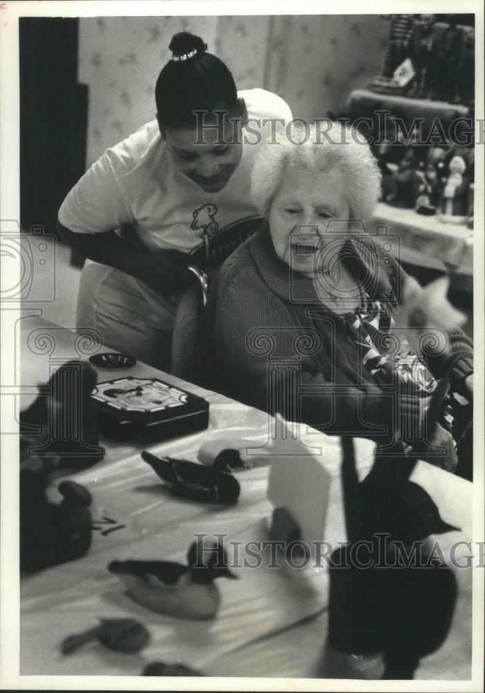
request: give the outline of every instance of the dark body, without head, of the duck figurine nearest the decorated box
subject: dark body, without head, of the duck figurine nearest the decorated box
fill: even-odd
[[[155,457],[143,450],[142,459],[175,495],[209,503],[235,503],[240,485],[223,464],[206,467],[186,459]]]

